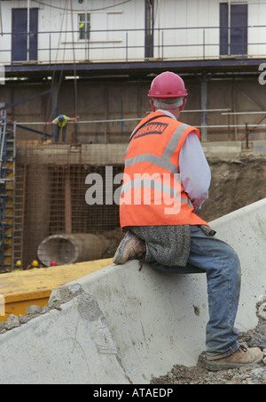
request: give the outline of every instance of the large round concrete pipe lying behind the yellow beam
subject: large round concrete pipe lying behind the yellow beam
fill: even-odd
[[[99,260],[109,245],[103,236],[91,234],[53,235],[38,247],[38,258],[49,267],[51,261],[58,265],[81,261]]]

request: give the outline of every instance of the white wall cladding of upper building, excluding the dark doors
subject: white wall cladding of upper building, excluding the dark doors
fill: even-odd
[[[220,57],[220,0],[154,0],[153,58],[203,60]],[[27,1],[2,1],[0,63],[12,60],[12,9]],[[264,57],[266,2],[247,5],[247,56]],[[44,63],[144,61],[145,0],[30,0],[38,8],[37,61]],[[80,37],[81,15],[90,34]],[[88,25],[89,27],[89,25]],[[0,27],[1,28],[1,27]],[[86,36],[86,35],[84,35]],[[230,37],[230,35],[229,35]],[[25,61],[25,60],[24,60]]]

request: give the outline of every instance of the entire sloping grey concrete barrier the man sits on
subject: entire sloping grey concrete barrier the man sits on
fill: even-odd
[[[246,331],[256,326],[255,304],[265,293],[266,199],[211,225],[239,253],[236,326]],[[0,382],[142,384],[175,364],[195,365],[205,350],[205,274],[138,267],[111,265],[51,293],[59,310],[1,335]],[[82,293],[74,294],[77,283]]]

